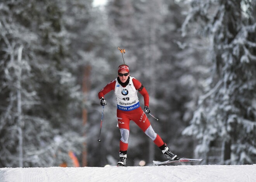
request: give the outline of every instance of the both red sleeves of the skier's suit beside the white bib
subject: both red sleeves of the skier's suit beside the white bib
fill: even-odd
[[[138,90],[142,86],[140,81],[136,80],[135,78],[132,79],[132,82],[133,82],[133,85],[134,85],[136,90]],[[101,97],[104,98],[104,95],[109,93],[111,90],[115,90],[115,85],[116,85],[116,80],[113,80],[113,81],[109,82],[104,88],[102,88],[102,90],[100,90],[100,92],[98,94],[99,99]],[[146,88],[142,88],[142,90],[139,91],[139,93],[144,98],[144,105],[149,106],[149,94],[148,94]]]

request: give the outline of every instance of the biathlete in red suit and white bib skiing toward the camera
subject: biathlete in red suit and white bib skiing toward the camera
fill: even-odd
[[[163,154],[170,160],[179,159],[177,155],[171,153],[166,143],[161,137],[155,133],[146,114],[150,113],[149,109],[149,94],[145,87],[135,78],[130,77],[130,70],[128,65],[118,66],[118,77],[109,82],[106,87],[100,90],[98,96],[100,105],[107,104],[104,95],[114,90],[117,101],[116,116],[118,119],[118,127],[121,132],[120,150],[118,166],[126,165],[128,138],[130,132],[130,121],[134,121],[143,132],[149,136],[154,143],[162,150]],[[140,107],[137,92],[144,97],[144,111]]]

